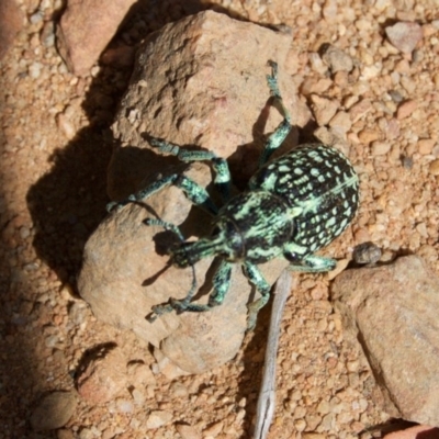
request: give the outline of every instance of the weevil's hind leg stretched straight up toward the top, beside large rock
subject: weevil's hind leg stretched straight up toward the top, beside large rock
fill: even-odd
[[[283,121],[279,124],[275,131],[269,136],[267,139],[261,157],[259,159],[259,168],[262,167],[273,154],[274,149],[278,149],[283,140],[286,138],[291,131],[291,115],[283,104],[282,95],[279,91],[278,85],[278,64],[273,61],[269,61],[269,65],[272,68],[271,75],[267,75],[267,83],[270,88],[271,95],[273,97],[273,104],[278,102],[281,108],[281,112],[283,115]]]

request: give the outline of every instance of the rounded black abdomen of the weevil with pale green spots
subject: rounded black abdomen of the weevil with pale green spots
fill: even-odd
[[[320,144],[302,145],[263,166],[249,182],[281,196],[295,212],[293,241],[306,252],[328,245],[359,204],[358,176],[347,157]]]

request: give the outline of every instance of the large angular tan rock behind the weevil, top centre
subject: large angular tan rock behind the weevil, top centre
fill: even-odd
[[[262,134],[282,120],[268,105],[268,60],[279,64],[280,88],[293,126],[309,120],[285,74],[291,38],[212,11],[170,23],[147,38],[113,124],[121,147],[110,166],[110,196],[125,196],[155,171],[144,151],[149,148],[145,134],[213,150],[227,157],[240,178],[250,177]],[[283,151],[295,145],[294,134]]]

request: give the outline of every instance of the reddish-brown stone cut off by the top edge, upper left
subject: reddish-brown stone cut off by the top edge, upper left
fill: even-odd
[[[58,50],[69,70],[89,72],[116,32],[134,0],[69,0],[57,30]]]

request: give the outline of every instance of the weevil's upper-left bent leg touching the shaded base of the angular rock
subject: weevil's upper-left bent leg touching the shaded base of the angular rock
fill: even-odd
[[[149,137],[148,142],[150,145],[157,147],[160,153],[171,154],[181,161],[212,161],[212,167],[215,171],[215,178],[213,182],[217,187],[223,201],[227,201],[229,199],[232,177],[226,159],[216,156],[216,154],[212,151],[188,150],[176,144],[165,142],[156,137]]]

